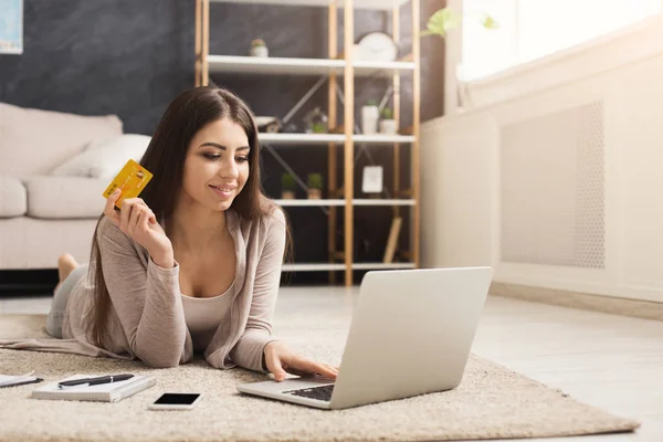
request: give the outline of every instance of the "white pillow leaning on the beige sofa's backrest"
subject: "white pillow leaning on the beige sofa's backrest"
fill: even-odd
[[[123,134],[92,141],[84,151],[57,166],[51,175],[114,178],[129,158],[140,162],[150,140],[147,135]]]

